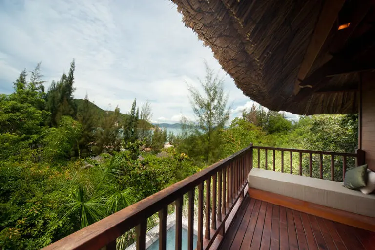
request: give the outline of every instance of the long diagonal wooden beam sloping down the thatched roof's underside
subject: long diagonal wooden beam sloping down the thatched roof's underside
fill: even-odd
[[[338,17],[345,0],[326,0],[322,11],[320,12],[319,20],[316,23],[314,33],[307,47],[305,57],[299,68],[297,80],[294,85],[293,94],[296,95],[300,91],[300,82],[302,82],[309,73],[312,64],[318,56],[324,42],[326,41],[331,28]]]

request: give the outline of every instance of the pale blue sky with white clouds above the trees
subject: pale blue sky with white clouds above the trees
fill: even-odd
[[[187,84],[200,89],[206,60],[224,80],[231,119],[253,104],[169,0],[0,0],[0,34],[0,93],[40,61],[47,89],[75,59],[75,98],[122,113],[137,98],[155,123],[194,120]]]

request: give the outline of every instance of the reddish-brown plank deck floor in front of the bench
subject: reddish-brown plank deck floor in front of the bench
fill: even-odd
[[[375,233],[246,196],[222,250],[375,250]]]

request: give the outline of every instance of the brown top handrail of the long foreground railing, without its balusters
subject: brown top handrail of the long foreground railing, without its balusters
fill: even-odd
[[[52,243],[43,248],[43,250],[92,249],[105,246],[116,240],[116,238],[120,237],[126,231],[137,226],[145,218],[158,212],[166,204],[170,204],[179,197],[182,197],[189,190],[207,180],[213,173],[224,168],[232,159],[243,155],[252,147],[250,145],[180,182]]]

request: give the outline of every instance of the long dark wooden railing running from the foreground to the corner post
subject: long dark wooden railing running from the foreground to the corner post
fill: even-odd
[[[137,250],[146,249],[147,218],[159,214],[159,249],[166,249],[167,206],[175,203],[176,250],[181,250],[182,209],[188,196],[188,250],[193,250],[194,195],[198,187],[197,249],[216,249],[242,203],[252,167],[252,144],[208,168],[136,204],[85,227],[47,247],[51,249],[116,249],[116,239],[135,227]],[[206,185],[205,185],[206,184]],[[204,203],[204,192],[206,202]],[[212,218],[211,218],[212,217]],[[205,224],[205,225],[204,225]],[[203,227],[205,226],[205,232]]]

